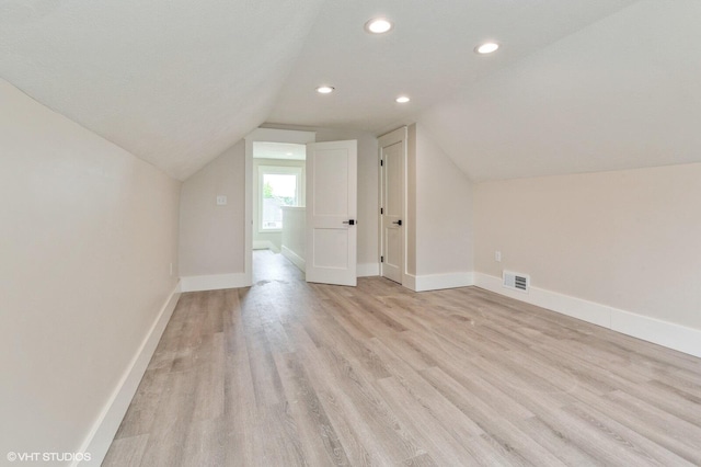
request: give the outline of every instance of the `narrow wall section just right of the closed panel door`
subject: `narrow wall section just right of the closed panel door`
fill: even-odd
[[[423,125],[411,125],[409,139],[409,273],[418,278],[440,277],[429,288],[469,285],[472,184]]]

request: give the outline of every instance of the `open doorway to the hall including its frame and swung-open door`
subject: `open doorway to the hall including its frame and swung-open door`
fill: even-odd
[[[254,247],[275,251],[277,242],[272,236],[281,234],[279,251],[285,254],[290,250],[286,249],[285,237],[287,225],[294,223],[285,220],[287,213],[297,214],[297,231],[301,231],[297,244],[303,252],[285,255],[294,264],[297,264],[295,258],[301,260],[302,264],[297,265],[306,272],[306,280],[355,285],[357,141],[314,143],[315,137],[315,132],[273,128],[257,128],[245,137],[244,275],[248,284],[253,284]],[[289,152],[294,156],[299,149],[296,146],[304,147],[303,168],[291,167],[300,166],[299,161],[280,162],[284,160],[279,158],[280,151],[286,157]],[[254,157],[265,150],[274,153],[275,159]],[[271,160],[276,162],[273,164]],[[281,210],[281,218],[277,209]],[[345,242],[341,241],[343,235]],[[309,264],[303,264],[307,257]]]

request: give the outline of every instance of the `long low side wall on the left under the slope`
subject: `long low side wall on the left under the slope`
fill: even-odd
[[[110,406],[177,284],[180,182],[2,80],[0,102],[4,460],[79,451]]]

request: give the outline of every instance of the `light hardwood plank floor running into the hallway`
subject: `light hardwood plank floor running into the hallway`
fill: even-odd
[[[701,465],[701,360],[476,287],[184,294],[105,466]]]

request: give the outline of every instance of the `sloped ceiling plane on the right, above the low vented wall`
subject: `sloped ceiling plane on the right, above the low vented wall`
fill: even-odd
[[[701,162],[701,2],[645,0],[418,122],[472,180]]]

